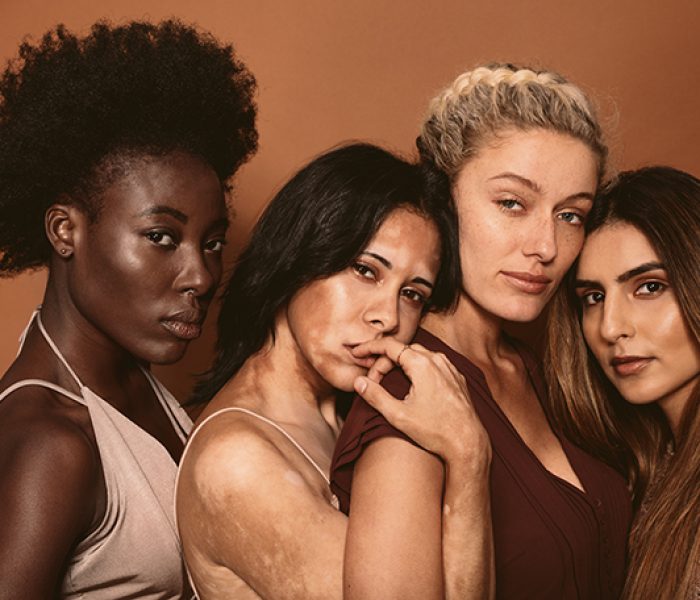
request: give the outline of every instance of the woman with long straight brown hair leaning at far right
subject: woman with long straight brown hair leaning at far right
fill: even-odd
[[[552,412],[631,483],[637,514],[624,596],[696,599],[700,180],[668,167],[623,173],[587,231],[552,307]]]

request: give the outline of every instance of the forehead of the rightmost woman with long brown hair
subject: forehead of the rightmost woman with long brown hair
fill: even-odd
[[[646,235],[629,223],[604,225],[591,233],[579,257],[577,275],[581,279],[616,277],[659,256]]]

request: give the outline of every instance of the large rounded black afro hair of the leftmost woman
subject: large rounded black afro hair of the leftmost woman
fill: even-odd
[[[232,46],[175,20],[23,43],[0,77],[0,276],[47,264],[46,209],[96,219],[129,159],[184,151],[225,182],[257,148],[254,92]]]

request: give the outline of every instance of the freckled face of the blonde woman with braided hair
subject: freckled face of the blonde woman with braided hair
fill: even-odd
[[[459,172],[455,201],[466,301],[535,319],[583,244],[597,166],[583,142],[545,129],[500,132]]]

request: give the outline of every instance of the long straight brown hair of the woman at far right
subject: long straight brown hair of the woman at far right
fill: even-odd
[[[614,223],[649,240],[700,347],[700,180],[670,167],[622,173],[596,199],[586,231]],[[700,577],[700,385],[675,440],[658,405],[626,402],[586,346],[575,273],[576,265],[549,314],[549,412],[571,439],[625,473],[636,507],[644,507],[630,535],[623,597],[690,598]]]

